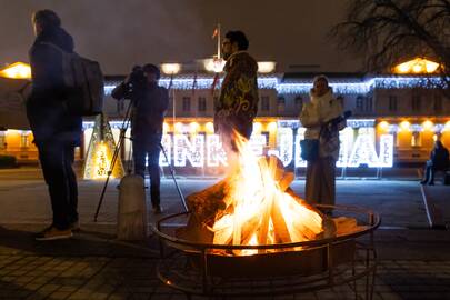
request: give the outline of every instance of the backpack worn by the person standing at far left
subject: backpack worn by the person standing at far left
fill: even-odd
[[[97,61],[70,53],[50,42],[42,42],[62,56],[62,77],[68,89],[68,110],[79,116],[96,116],[102,112],[104,77]]]

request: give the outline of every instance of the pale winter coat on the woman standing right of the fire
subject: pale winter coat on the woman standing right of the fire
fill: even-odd
[[[339,130],[344,128],[344,122],[336,127],[328,126],[329,121],[342,114],[343,108],[340,101],[334,99],[332,90],[317,97],[311,90],[311,101],[303,106],[300,113],[300,122],[306,127],[306,139],[320,139],[319,157],[339,158]]]

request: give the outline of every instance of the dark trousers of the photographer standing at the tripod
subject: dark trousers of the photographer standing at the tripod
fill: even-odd
[[[146,157],[150,174],[150,199],[153,207],[161,202],[159,156],[161,153],[159,133],[133,138],[134,173],[146,179]]]

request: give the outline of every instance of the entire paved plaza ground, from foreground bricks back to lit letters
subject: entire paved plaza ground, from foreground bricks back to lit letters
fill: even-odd
[[[417,174],[416,174],[417,177]],[[450,187],[422,188],[414,173],[381,180],[338,180],[339,204],[381,214],[374,299],[450,299]],[[184,194],[217,179],[180,179]],[[0,299],[186,299],[156,276],[154,237],[142,243],[114,239],[118,181],[112,180],[99,220],[93,213],[102,182],[79,182],[82,231],[71,240],[37,242],[50,220],[39,171],[0,170]],[[304,181],[291,186],[303,196]],[[164,213],[181,211],[173,181],[162,180]],[[154,216],[149,212],[149,219]],[[431,229],[433,227],[433,229]],[[203,299],[203,298],[194,298]],[[349,287],[263,299],[354,299]]]

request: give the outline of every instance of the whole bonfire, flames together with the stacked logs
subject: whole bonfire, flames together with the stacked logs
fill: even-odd
[[[309,241],[358,230],[351,218],[331,219],[298,197],[294,176],[274,156],[256,157],[234,132],[233,166],[217,184],[187,198],[191,211],[179,238],[214,244],[279,244]],[[300,250],[300,249],[294,249]],[[274,250],[242,250],[222,254],[251,256]]]

